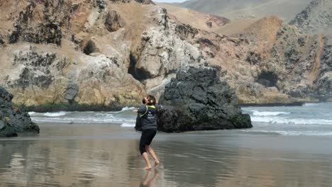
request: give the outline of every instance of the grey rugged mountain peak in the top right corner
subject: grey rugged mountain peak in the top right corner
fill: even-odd
[[[304,33],[331,33],[332,32],[332,1],[311,1],[304,11],[289,22],[297,26]]]

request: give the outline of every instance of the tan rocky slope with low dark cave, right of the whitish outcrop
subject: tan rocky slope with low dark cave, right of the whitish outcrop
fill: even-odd
[[[224,30],[231,38],[221,34]],[[331,96],[331,40],[326,35],[306,35],[276,16],[231,21],[215,33],[219,35],[199,30],[192,43],[200,43],[206,59],[223,69],[221,77],[237,90],[240,101],[315,101]]]

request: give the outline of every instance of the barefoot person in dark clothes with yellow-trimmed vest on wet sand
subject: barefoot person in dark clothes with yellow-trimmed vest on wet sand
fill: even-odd
[[[150,144],[157,133],[157,110],[160,109],[159,105],[155,105],[156,99],[154,96],[145,96],[145,105],[140,106],[138,110],[133,110],[133,112],[140,114],[140,120],[142,123],[142,135],[140,136],[140,154],[146,162],[144,169],[151,169],[152,166],[149,162],[148,153],[155,160],[155,166],[159,164],[159,160],[150,147]],[[148,152],[148,153],[147,153]]]

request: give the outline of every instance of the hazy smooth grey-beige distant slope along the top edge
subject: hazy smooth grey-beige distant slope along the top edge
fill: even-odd
[[[303,10],[311,0],[191,0],[184,1],[184,8],[192,8],[195,11],[203,11],[234,20],[236,18],[247,18],[255,16],[278,16],[289,21]]]

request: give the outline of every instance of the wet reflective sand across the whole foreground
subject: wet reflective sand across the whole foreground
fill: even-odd
[[[332,137],[157,133],[144,171],[140,132],[116,124],[39,123],[0,139],[0,186],[331,186]],[[153,161],[151,160],[151,163]]]

